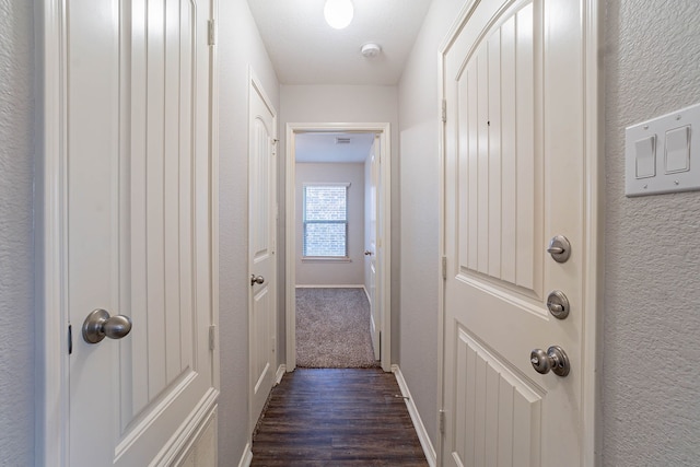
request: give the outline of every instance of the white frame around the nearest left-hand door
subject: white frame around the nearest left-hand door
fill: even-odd
[[[211,20],[219,17],[219,0]],[[34,197],[35,247],[35,388],[34,455],[36,465],[68,465],[69,323],[67,277],[67,25],[65,0],[34,0],[36,44],[36,149]],[[219,62],[209,47],[209,129],[211,185],[211,306],[214,340],[219,323]],[[74,324],[72,338],[80,338]],[[220,389],[219,346],[212,350],[213,386]],[[214,401],[215,402],[215,401]],[[183,446],[186,446],[184,444]]]

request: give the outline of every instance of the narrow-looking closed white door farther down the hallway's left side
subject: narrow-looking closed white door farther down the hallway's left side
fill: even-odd
[[[250,278],[250,429],[276,374],[277,116],[259,82],[250,80],[248,265]]]

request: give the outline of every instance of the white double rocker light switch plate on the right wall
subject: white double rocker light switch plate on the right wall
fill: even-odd
[[[678,131],[684,127],[687,130]],[[673,137],[668,141],[670,144],[667,144],[667,132]],[[680,150],[678,144],[679,135],[688,138],[689,168],[681,172],[678,171],[679,160],[684,157],[682,144]],[[649,168],[651,156],[645,143],[649,138],[655,138],[655,171]],[[638,155],[638,151],[642,152]],[[625,130],[625,164],[627,196],[700,189],[700,104],[628,127]]]

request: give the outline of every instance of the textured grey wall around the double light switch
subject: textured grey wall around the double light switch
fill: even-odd
[[[623,131],[700,102],[698,1],[608,1],[606,36],[603,460],[697,466],[700,192],[626,198]]]

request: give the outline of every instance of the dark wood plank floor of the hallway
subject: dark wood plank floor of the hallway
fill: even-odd
[[[427,466],[396,377],[296,369],[272,389],[252,466]]]

